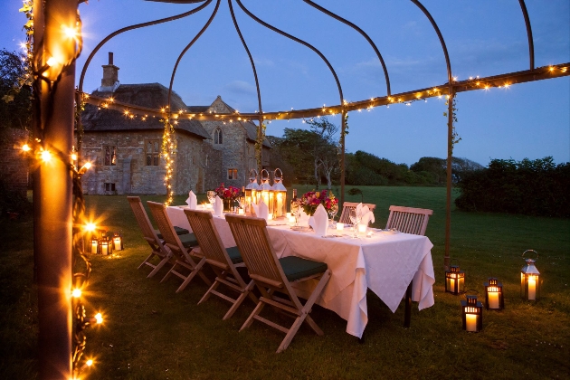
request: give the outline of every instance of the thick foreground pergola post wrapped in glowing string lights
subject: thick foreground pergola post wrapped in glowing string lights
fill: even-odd
[[[73,95],[75,42],[62,33],[75,28],[77,0],[35,0],[34,125],[37,147],[51,153],[39,159],[33,183],[34,242],[38,280],[39,377],[70,379]],[[52,62],[48,64],[48,60]],[[44,77],[42,79],[41,77]],[[36,151],[36,154],[39,153]],[[48,158],[47,155],[44,158]]]

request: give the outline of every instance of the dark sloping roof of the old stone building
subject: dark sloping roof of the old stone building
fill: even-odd
[[[93,91],[93,95],[109,97],[110,92]],[[134,104],[151,109],[164,108],[168,103],[168,89],[160,83],[121,84],[112,92],[114,99],[128,104]],[[172,109],[188,109],[182,99],[172,92],[170,104]],[[202,106],[197,106],[202,107]],[[193,107],[194,109],[195,107]],[[207,109],[207,106],[203,107]],[[141,130],[163,129],[164,125],[158,118],[129,119],[122,113],[113,109],[98,109],[90,104],[85,105],[81,115],[83,129],[86,132],[112,131],[112,130]],[[176,125],[176,130],[185,131],[199,138],[210,138],[199,121],[181,119]]]

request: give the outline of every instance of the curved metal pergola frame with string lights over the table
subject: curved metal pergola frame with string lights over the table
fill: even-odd
[[[255,78],[257,99],[259,110],[252,113],[236,113],[228,114],[188,114],[181,112],[173,112],[170,109],[170,95],[176,77],[176,69],[179,62],[189,51],[192,45],[200,38],[204,31],[214,20],[218,12],[221,0],[215,1],[214,11],[204,24],[202,29],[180,52],[176,64],[172,70],[169,92],[168,105],[165,109],[145,109],[132,104],[124,104],[118,101],[102,99],[95,96],[89,96],[83,92],[83,80],[85,73],[93,56],[100,48],[110,39],[120,33],[125,33],[134,29],[147,27],[156,24],[162,24],[177,19],[184,18],[191,14],[203,11],[208,5],[214,3],[214,0],[150,0],[164,3],[175,4],[199,4],[194,9],[183,14],[177,14],[171,17],[143,23],[135,24],[119,29],[114,33],[110,33],[105,37],[94,49],[82,68],[79,89],[74,90],[75,80],[75,59],[79,54],[75,43],[70,43],[62,37],[61,27],[64,24],[76,25],[81,20],[78,16],[78,5],[84,0],[34,0],[33,1],[33,67],[39,73],[35,77],[34,89],[37,90],[36,109],[41,118],[36,118],[34,125],[34,136],[43,137],[43,145],[57,147],[60,152],[71,152],[72,136],[73,136],[73,103],[76,100],[79,103],[85,102],[101,108],[116,109],[119,111],[127,110],[133,115],[140,116],[157,116],[163,119],[174,120],[180,118],[196,119],[201,121],[207,120],[230,120],[245,119],[257,120],[258,139],[262,138],[262,124],[265,120],[278,119],[302,119],[326,115],[342,115],[342,125],[340,134],[341,146],[341,194],[340,200],[344,201],[345,191],[345,132],[346,132],[346,116],[347,113],[359,109],[371,109],[375,107],[387,106],[394,103],[403,103],[413,100],[424,100],[432,97],[446,96],[448,98],[448,152],[447,152],[447,193],[446,193],[446,224],[445,224],[445,258],[444,266],[447,268],[450,261],[450,234],[451,234],[451,157],[453,146],[453,99],[457,93],[470,90],[483,90],[491,87],[508,87],[512,84],[523,83],[527,81],[542,81],[546,79],[564,77],[570,74],[570,62],[554,64],[547,67],[535,67],[534,43],[532,37],[532,29],[530,19],[527,14],[527,7],[524,0],[518,0],[521,14],[524,18],[527,30],[528,41],[528,58],[529,65],[526,71],[507,72],[495,76],[470,79],[467,81],[455,81],[451,71],[451,61],[445,44],[443,35],[432,18],[430,12],[418,0],[411,0],[427,17],[432,24],[433,31],[437,34],[442,46],[442,53],[445,57],[448,81],[439,86],[429,89],[410,90],[403,93],[393,94],[390,90],[390,77],[388,68],[382,58],[381,53],[377,49],[374,41],[359,28],[356,24],[342,18],[341,16],[330,12],[328,9],[318,5],[310,0],[303,0],[306,4],[313,6],[318,11],[334,18],[339,23],[346,24],[354,28],[358,33],[366,39],[366,42],[374,49],[378,61],[382,65],[385,74],[386,93],[383,96],[372,99],[358,100],[347,102],[344,100],[341,83],[338,80],[337,73],[333,66],[328,62],[327,58],[315,46],[300,40],[299,38],[285,33],[280,29],[261,20],[255,14],[252,14],[243,4],[241,0],[228,0],[228,6],[233,18],[233,24],[238,33],[243,47],[248,54],[252,65],[253,76]],[[296,110],[277,110],[264,111],[261,104],[260,83],[257,76],[255,63],[252,59],[245,39],[240,31],[239,24],[233,11],[233,4],[238,5],[242,11],[247,14],[253,21],[265,26],[274,33],[289,38],[292,41],[300,43],[318,56],[325,62],[331,71],[338,90],[338,104],[330,107],[318,107]],[[51,66],[49,58],[54,52],[60,52],[65,57],[61,65]],[[41,77],[45,78],[41,78]],[[46,80],[47,78],[47,80]],[[45,117],[48,115],[49,117]],[[79,118],[81,122],[81,118]],[[81,130],[81,126],[79,128]],[[37,133],[36,133],[37,132]],[[61,162],[60,162],[61,161]],[[67,294],[67,290],[71,289],[71,245],[73,236],[71,233],[71,177],[69,174],[69,164],[64,159],[49,168],[39,166],[34,173],[33,194],[34,194],[34,250],[37,257],[38,265],[38,284],[39,284],[39,324],[40,324],[40,347],[42,353],[40,356],[40,377],[41,378],[71,378],[71,300]],[[58,240],[52,239],[57,234]],[[58,254],[54,254],[58,252]]]

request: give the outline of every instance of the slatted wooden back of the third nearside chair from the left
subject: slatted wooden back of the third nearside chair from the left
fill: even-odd
[[[200,251],[206,259],[217,261],[218,263],[228,266],[230,258],[223,248],[223,242],[220,234],[214,225],[214,218],[209,211],[185,210],[184,214],[195,233]]]

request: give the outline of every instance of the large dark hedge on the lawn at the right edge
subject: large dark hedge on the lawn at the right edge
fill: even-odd
[[[455,204],[465,211],[570,216],[570,163],[552,157],[493,159],[489,168],[462,176]]]

